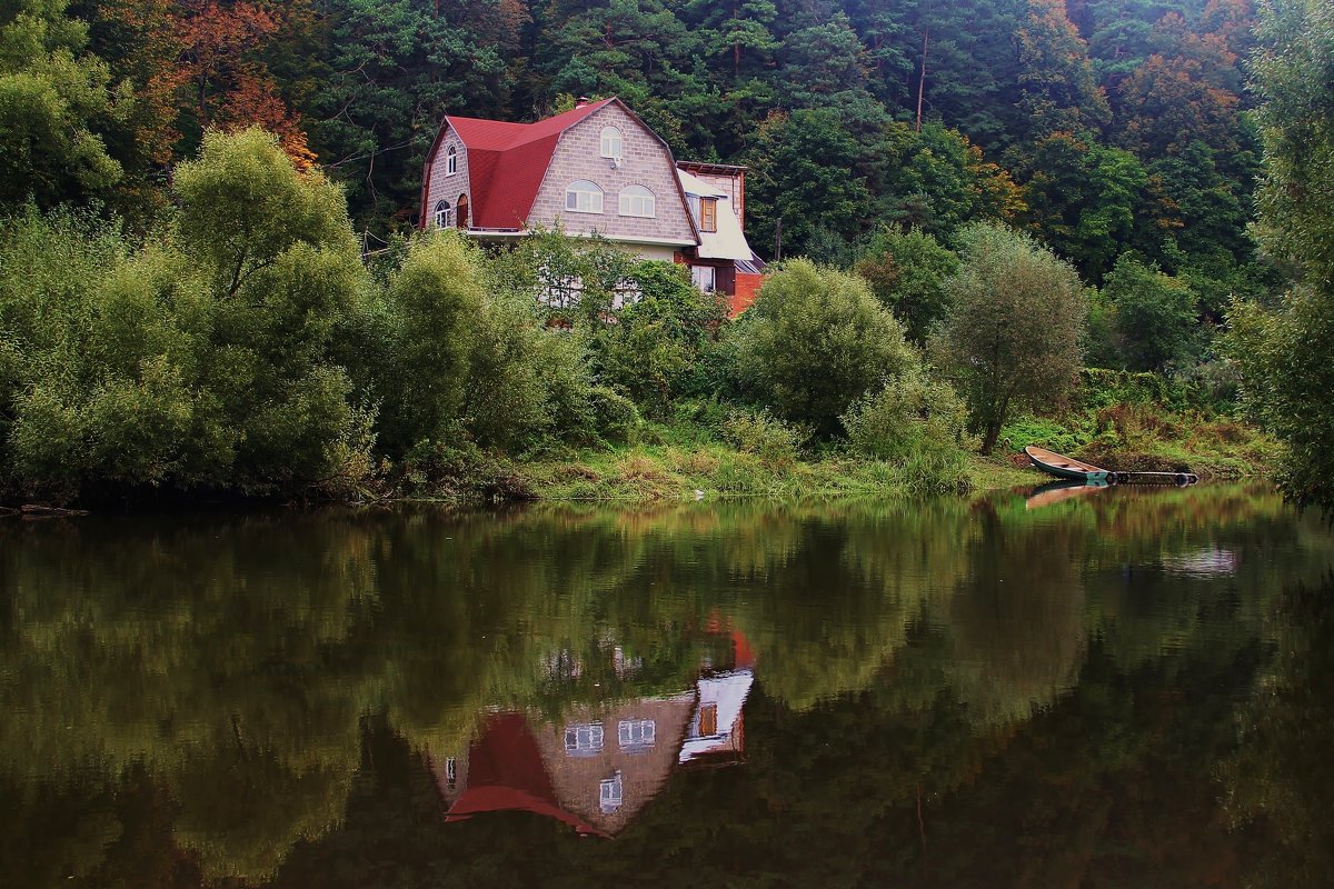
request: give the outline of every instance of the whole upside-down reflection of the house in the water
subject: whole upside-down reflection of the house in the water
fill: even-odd
[[[706,665],[690,692],[580,706],[556,724],[491,714],[466,754],[431,761],[446,821],[520,810],[610,837],[662,790],[674,765],[739,762],[754,656],[740,633],[732,642],[732,662]]]

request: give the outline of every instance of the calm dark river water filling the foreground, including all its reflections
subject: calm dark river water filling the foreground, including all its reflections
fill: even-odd
[[[0,521],[4,886],[1334,885],[1257,489]]]

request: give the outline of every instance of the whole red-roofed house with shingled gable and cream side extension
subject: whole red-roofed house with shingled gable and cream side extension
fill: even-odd
[[[764,268],[743,233],[744,189],[744,167],[678,164],[623,101],[582,99],[535,124],[447,116],[427,155],[419,225],[491,243],[556,225],[596,233],[688,267],[736,313]]]

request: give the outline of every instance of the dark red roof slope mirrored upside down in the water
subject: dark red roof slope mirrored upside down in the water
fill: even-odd
[[[542,753],[520,713],[492,716],[468,750],[468,786],[446,813],[462,821],[480,812],[520,810],[564,821],[579,833],[596,828],[560,808]]]

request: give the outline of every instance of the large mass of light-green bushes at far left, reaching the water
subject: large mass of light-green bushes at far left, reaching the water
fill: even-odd
[[[4,225],[11,485],[355,489],[370,413],[334,345],[368,277],[340,189],[260,131],[209,133],[173,188],[148,245],[68,215]]]

